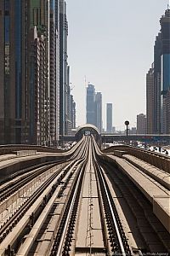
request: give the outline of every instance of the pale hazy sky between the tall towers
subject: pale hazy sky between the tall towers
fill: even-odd
[[[113,103],[113,125],[136,125],[145,113],[145,74],[153,62],[159,20],[168,0],[66,0],[69,21],[68,55],[77,125],[86,122],[86,88],[94,84]]]

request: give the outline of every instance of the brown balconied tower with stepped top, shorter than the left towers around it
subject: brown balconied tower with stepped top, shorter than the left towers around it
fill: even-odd
[[[27,67],[27,80],[29,86],[28,108],[26,114],[30,125],[28,127],[27,143],[42,145],[47,142],[47,55],[46,39],[37,35],[37,26],[29,32],[30,65]]]

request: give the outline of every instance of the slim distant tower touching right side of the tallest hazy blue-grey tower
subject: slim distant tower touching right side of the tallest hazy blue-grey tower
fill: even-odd
[[[99,132],[102,131],[102,94],[97,92],[95,95],[95,117],[96,117],[96,127]]]

